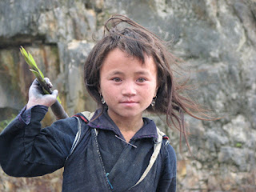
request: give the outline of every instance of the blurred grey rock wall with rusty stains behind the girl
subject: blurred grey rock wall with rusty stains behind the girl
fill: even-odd
[[[179,150],[178,131],[167,130],[153,117],[177,151],[178,191],[256,190],[254,0],[1,1],[0,121],[18,114],[34,79],[19,46],[33,54],[54,83],[68,114],[94,110],[83,86],[83,63],[94,46],[92,34],[100,37],[102,23],[114,13],[126,14],[171,40],[174,54],[185,61],[182,67],[189,69],[184,72],[194,85],[189,94],[222,117],[214,122],[186,117],[191,154],[185,142],[183,152]],[[53,116],[47,114],[44,124],[51,121]],[[54,186],[49,180],[47,185]],[[15,191],[10,183],[18,181],[22,189],[34,180],[1,174],[0,181],[1,191]],[[34,191],[34,186],[19,191]]]

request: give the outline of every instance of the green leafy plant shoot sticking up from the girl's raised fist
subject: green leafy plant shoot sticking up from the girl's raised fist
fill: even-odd
[[[42,71],[39,70],[38,65],[34,61],[34,58],[30,54],[30,52],[26,52],[26,50],[21,46],[20,51],[25,58],[26,63],[30,66],[30,71],[35,75],[35,77],[38,79],[38,82],[42,86],[42,90],[44,94],[51,94],[52,91],[47,86],[46,80],[44,79],[44,75],[42,74]],[[58,102],[61,103],[61,100],[59,97],[57,97]]]

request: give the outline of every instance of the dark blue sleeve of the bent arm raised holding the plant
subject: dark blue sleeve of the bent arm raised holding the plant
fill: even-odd
[[[64,166],[78,122],[66,118],[42,129],[40,122],[46,111],[34,106],[25,121],[19,114],[0,134],[0,163],[6,174],[34,177]]]

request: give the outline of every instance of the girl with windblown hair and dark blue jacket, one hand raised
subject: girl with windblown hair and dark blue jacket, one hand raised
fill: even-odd
[[[119,23],[130,26],[119,29]],[[2,169],[34,177],[64,166],[62,191],[175,191],[174,149],[152,120],[142,118],[145,110],[166,114],[168,125],[178,122],[185,134],[183,114],[200,112],[178,92],[174,63],[162,40],[129,18],[112,16],[84,66],[86,89],[99,109],[41,129],[58,91],[42,94],[34,81],[27,105],[0,134]]]

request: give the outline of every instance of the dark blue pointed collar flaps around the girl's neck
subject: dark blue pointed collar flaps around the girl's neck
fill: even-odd
[[[91,119],[94,119],[95,117],[100,114],[101,109],[98,109],[95,111],[94,116]],[[136,134],[134,134],[134,137],[132,139],[138,139],[138,138],[154,138],[158,139],[158,132],[156,129],[156,126],[154,124],[154,121],[150,120],[149,118],[143,118],[144,125]],[[119,130],[118,126],[113,122],[113,120],[110,118],[110,116],[107,114],[106,110],[95,120],[88,123],[88,126],[100,129],[100,130],[112,130],[115,134],[120,137],[121,131]]]

